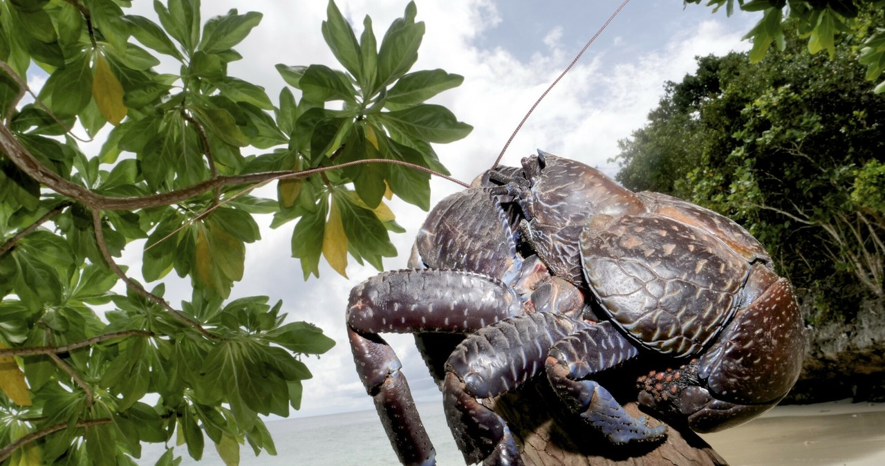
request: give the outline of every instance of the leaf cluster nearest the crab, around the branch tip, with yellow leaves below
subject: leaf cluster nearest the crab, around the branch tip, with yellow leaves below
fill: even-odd
[[[290,167],[348,164],[361,158],[412,164],[352,165],[341,172],[280,184],[281,212],[273,225],[297,218],[292,255],[304,277],[319,276],[319,256],[342,275],[347,256],[381,270],[382,257],[396,255],[388,231],[403,231],[382,198],[397,195],[427,210],[430,175],[448,174],[431,143],[458,141],[472,127],[427,99],[464,80],[443,70],[409,70],[418,59],[424,23],[415,21],[414,3],[396,19],[378,44],[372,19],[357,39],[334,3],[329,3],[323,37],[345,71],[325,65],[277,65],[292,88],[280,95],[281,114],[290,115]],[[331,109],[329,103],[339,103]],[[291,160],[294,158],[294,162]]]

